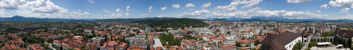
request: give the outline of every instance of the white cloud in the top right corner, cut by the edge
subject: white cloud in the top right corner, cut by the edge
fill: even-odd
[[[330,1],[328,5],[332,7],[346,7],[346,8],[353,8],[353,0],[336,0]]]

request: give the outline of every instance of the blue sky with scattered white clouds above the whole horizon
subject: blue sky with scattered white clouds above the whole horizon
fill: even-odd
[[[0,0],[0,17],[351,19],[353,0]]]

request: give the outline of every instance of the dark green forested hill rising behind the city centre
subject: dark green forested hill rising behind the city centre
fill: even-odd
[[[189,19],[189,18],[181,18],[181,19],[172,19],[172,20],[160,20],[160,21],[154,21],[150,23],[151,26],[153,27],[161,27],[161,28],[184,28],[184,27],[190,27],[192,26],[193,28],[197,27],[205,27],[208,26],[207,23],[199,21],[199,20],[194,20],[194,19]]]

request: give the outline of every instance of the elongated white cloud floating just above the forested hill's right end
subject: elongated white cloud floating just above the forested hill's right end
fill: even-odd
[[[200,16],[208,13],[210,13],[210,11],[208,10],[196,10],[195,12],[189,12],[189,13],[184,12],[183,14],[179,14],[177,16],[179,17]]]

